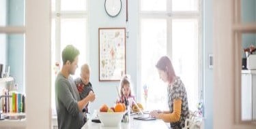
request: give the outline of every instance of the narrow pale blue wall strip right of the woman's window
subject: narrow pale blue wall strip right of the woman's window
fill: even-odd
[[[203,86],[205,102],[205,128],[213,128],[213,69],[208,67],[208,55],[213,54],[212,0],[203,1]],[[214,56],[213,56],[214,58]]]

